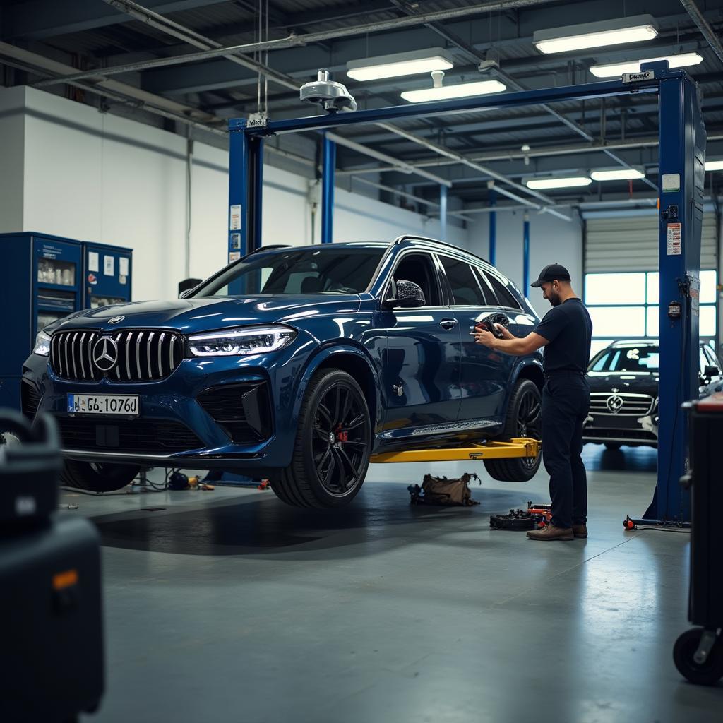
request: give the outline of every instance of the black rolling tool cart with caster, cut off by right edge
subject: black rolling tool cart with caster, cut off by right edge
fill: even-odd
[[[690,472],[680,479],[690,488],[688,620],[699,627],[675,642],[675,667],[691,683],[715,685],[723,677],[723,484],[718,445],[723,435],[723,393],[685,405],[690,414]]]

